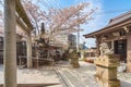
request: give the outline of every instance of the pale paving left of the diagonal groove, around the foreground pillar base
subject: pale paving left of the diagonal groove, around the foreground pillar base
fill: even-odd
[[[3,84],[3,65],[0,65],[0,85]],[[17,84],[31,85],[25,87],[63,87],[56,71],[50,66],[40,69],[17,69]],[[37,86],[32,86],[33,84]]]

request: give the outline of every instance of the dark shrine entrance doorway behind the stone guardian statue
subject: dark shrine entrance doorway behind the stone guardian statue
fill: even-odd
[[[120,61],[127,63],[127,39],[115,40],[114,52],[120,54]]]

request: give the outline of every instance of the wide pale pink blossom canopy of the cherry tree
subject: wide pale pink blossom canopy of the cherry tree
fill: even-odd
[[[63,9],[49,8],[48,11],[41,11],[40,7],[33,3],[32,0],[23,0],[23,4],[34,26],[39,29],[40,22],[44,22],[50,34],[78,32],[80,28],[76,26],[92,20],[92,14],[96,11],[94,9],[82,13],[90,7],[87,2]]]

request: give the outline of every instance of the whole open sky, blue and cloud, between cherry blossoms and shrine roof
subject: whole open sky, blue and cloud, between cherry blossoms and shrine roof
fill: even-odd
[[[95,40],[85,39],[82,35],[103,28],[110,18],[131,10],[131,0],[59,0],[61,7],[70,7],[75,1],[88,1],[93,4],[92,8],[99,9],[94,15],[95,20],[82,26],[84,32],[81,32],[81,42],[85,41],[87,47],[94,47]]]

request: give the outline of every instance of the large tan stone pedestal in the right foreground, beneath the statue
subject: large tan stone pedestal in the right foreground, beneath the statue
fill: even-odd
[[[117,79],[118,58],[118,55],[108,54],[99,57],[94,61],[96,64],[95,77],[100,87],[120,87],[120,80]]]

